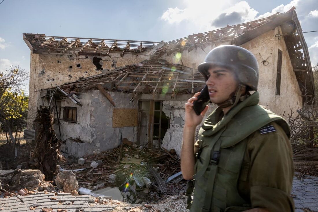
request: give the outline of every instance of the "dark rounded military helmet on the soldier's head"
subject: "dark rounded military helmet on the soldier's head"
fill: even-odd
[[[239,83],[248,86],[247,90],[257,90],[259,67],[255,56],[240,46],[221,45],[212,49],[198,66],[199,72],[208,80],[211,66],[222,66],[234,70]]]

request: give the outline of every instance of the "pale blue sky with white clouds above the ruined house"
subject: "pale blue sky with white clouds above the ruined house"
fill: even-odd
[[[293,6],[303,32],[318,30],[317,0],[4,0],[0,72],[10,65],[30,70],[30,49],[22,33],[160,42],[286,12]],[[318,32],[304,36],[311,63],[317,64]]]

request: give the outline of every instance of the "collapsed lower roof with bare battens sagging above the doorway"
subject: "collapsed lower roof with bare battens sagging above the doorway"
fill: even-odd
[[[137,94],[194,94],[205,85],[204,77],[191,68],[181,64],[168,63],[161,59],[145,60],[134,65],[126,65],[104,74],[86,77],[66,83],[53,89],[44,89],[42,97],[50,96],[58,89],[64,96],[80,105],[75,93],[86,92],[89,89],[121,91],[133,93],[131,101]],[[74,98],[75,97],[75,98]]]

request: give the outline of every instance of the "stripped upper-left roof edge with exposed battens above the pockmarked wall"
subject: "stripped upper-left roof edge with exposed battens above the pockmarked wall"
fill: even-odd
[[[100,38],[46,36],[23,33],[23,39],[32,53],[109,56],[111,52],[146,53],[159,42],[114,40]]]

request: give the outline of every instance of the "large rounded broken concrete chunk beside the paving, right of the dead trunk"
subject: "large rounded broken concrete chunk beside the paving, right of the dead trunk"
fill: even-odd
[[[62,171],[55,179],[55,183],[58,189],[63,189],[65,193],[71,193],[71,191],[79,189],[79,184],[76,180],[76,176],[72,171]]]

